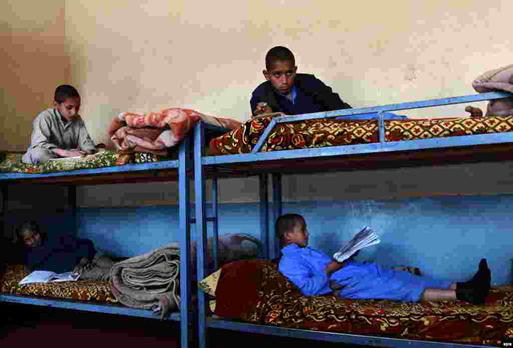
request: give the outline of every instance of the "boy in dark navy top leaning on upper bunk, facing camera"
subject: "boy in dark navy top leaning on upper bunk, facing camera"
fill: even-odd
[[[266,82],[252,93],[253,117],[270,112],[288,115],[350,109],[339,94],[311,74],[298,74],[292,52],[283,46],[271,48],[265,56]]]

